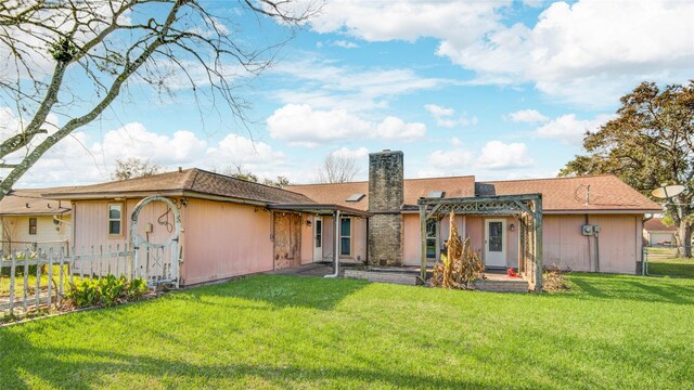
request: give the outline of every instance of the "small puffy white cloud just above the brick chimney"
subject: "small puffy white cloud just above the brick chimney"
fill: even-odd
[[[420,122],[406,123],[396,117],[373,122],[342,108],[318,110],[308,104],[278,108],[267,123],[271,138],[307,147],[363,139],[413,141],[426,133],[426,127]]]

